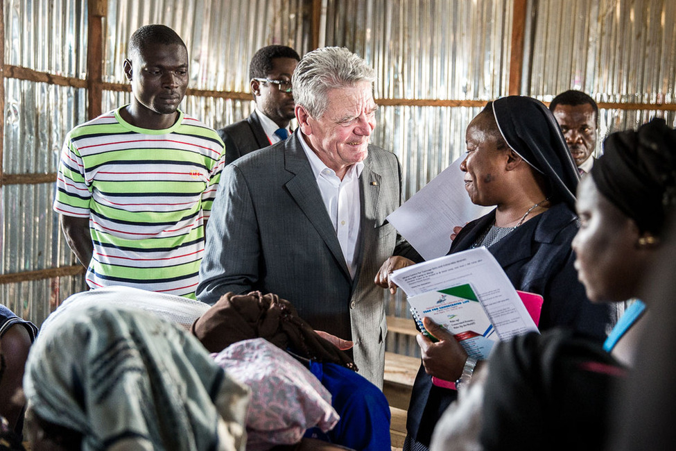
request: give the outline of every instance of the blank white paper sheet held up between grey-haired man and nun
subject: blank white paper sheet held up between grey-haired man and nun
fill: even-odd
[[[453,227],[465,226],[493,208],[471,203],[460,171],[464,158],[458,158],[388,216],[392,226],[426,260],[446,255]]]

